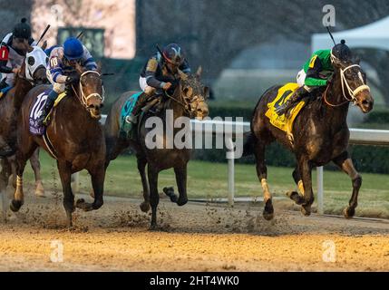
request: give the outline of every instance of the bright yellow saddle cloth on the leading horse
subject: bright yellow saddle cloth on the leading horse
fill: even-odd
[[[287,133],[287,138],[293,144],[293,122],[295,121],[298,113],[303,109],[306,102],[303,100],[298,102],[296,106],[290,109],[288,113],[288,118],[285,114],[278,115],[277,108],[281,106],[283,103],[287,102],[287,100],[293,95],[294,92],[299,88],[297,83],[289,82],[283,87],[278,89],[277,97],[273,102],[269,102],[267,104],[267,112],[265,115],[267,116],[270,123],[277,127],[279,130],[285,131]]]

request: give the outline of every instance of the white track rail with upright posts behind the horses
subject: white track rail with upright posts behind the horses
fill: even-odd
[[[106,115],[102,116],[102,123],[105,123],[106,118]],[[250,131],[249,122],[192,120],[191,123],[194,133],[205,134],[223,134],[223,128],[225,126],[231,126],[233,134],[228,137],[229,142],[232,142],[233,138],[239,137],[235,134],[238,127],[243,129],[244,134],[247,134]],[[199,124],[201,124],[201,126],[199,126]],[[350,144],[389,146],[389,130],[350,129]],[[232,206],[235,198],[235,159],[233,156],[230,156],[228,164],[229,205]],[[323,168],[317,168],[317,212],[319,214],[324,214],[323,171]]]

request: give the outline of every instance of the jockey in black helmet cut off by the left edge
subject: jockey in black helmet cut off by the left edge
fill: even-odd
[[[22,18],[16,24],[12,33],[7,34],[0,44],[0,73],[5,78],[0,82],[0,89],[14,84],[15,73],[20,72],[25,54],[30,45],[34,45],[31,37],[31,27],[26,23],[27,19]]]

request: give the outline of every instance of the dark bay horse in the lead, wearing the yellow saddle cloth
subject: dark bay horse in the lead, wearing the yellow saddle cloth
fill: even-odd
[[[333,81],[326,87],[326,92],[314,91],[316,100],[308,102],[297,115],[292,130],[293,144],[287,134],[274,127],[265,116],[267,104],[274,101],[279,88],[272,87],[261,96],[251,120],[251,135],[245,144],[245,151],[253,150],[257,160],[258,179],[264,192],[264,218],[269,220],[274,215],[265,163],[266,147],[274,140],[295,153],[297,167],[293,178],[301,195],[293,191],[288,196],[302,206],[304,215],[310,215],[314,202],[312,169],[333,161],[352,179],[353,194],[344,215],[345,218],[354,217],[362,178],[347,152],[350,133],[346,117],[350,102],[354,102],[364,113],[373,109],[374,99],[366,85],[365,73],[359,64],[336,63]]]

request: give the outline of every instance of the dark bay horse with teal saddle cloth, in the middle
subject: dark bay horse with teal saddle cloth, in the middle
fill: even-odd
[[[205,102],[208,88],[203,87],[199,82],[199,74],[200,70],[195,75],[187,75],[179,72],[180,81],[174,93],[168,97],[164,109],[156,114],[149,111],[139,121],[136,140],[122,139],[119,134],[119,120],[122,106],[136,92],[123,93],[121,98],[112,105],[112,110],[108,114],[107,121],[105,122],[104,131],[107,144],[106,166],[108,166],[111,160],[116,159],[126,148],[131,147],[132,150],[136,151],[138,170],[141,174],[143,186],[144,201],[141,204],[141,210],[147,212],[151,206],[151,229],[157,227],[157,207],[160,200],[158,175],[161,170],[173,168],[176,175],[180,197],[177,198],[172,189],[164,189],[165,193],[170,196],[171,201],[177,203],[179,206],[183,206],[188,202],[187,164],[190,160],[191,150],[188,148],[179,149],[176,147],[176,144],[173,144],[170,147],[171,149],[168,149],[166,146],[168,142],[173,141],[178,133],[178,130],[175,129],[172,135],[167,135],[166,124],[168,121],[166,112],[169,110],[173,112],[172,120],[170,121],[177,121],[180,117],[196,117],[201,120],[208,116],[208,105]],[[146,136],[152,131],[151,128],[147,128],[149,126],[146,126],[147,121],[151,117],[159,118],[164,124],[163,130],[159,133],[160,138],[156,138],[160,140],[160,143],[163,143],[160,149],[150,149],[146,142]],[[189,121],[189,118],[187,120]],[[148,166],[147,176],[146,165]]]

